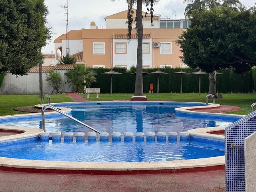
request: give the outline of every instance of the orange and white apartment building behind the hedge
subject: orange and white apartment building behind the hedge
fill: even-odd
[[[136,10],[134,9],[134,14]],[[145,14],[145,13],[143,13]],[[71,30],[69,52],[79,63],[93,68],[130,68],[136,66],[137,36],[132,31],[130,41],[127,36],[127,10],[107,16],[106,29],[99,29],[91,22],[90,29]],[[181,52],[175,40],[189,26],[186,20],[161,19],[154,15],[143,18],[143,68],[184,67]],[[66,34],[54,40],[55,61],[58,55],[66,55]]]

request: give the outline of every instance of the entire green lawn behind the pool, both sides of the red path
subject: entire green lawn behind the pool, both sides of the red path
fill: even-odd
[[[81,95],[86,98],[86,94]],[[87,99],[88,101],[112,101],[118,99],[130,100],[132,94],[100,94],[96,99],[96,95],[90,94],[94,98]],[[198,96],[196,93],[190,94],[146,94],[148,100],[161,100],[161,101],[185,101],[185,102],[205,102],[206,94]],[[67,95],[51,95],[51,102],[72,102]],[[45,98],[46,102],[46,98]],[[210,100],[212,102],[212,100]],[[222,105],[234,105],[240,106],[242,110],[236,112],[229,112],[231,114],[246,115],[250,112],[250,106],[256,102],[256,94],[223,94],[223,99],[216,99],[216,103]],[[16,107],[21,106],[34,106],[40,104],[40,98],[38,95],[0,95],[0,115],[12,115],[21,114],[13,110]],[[255,108],[256,109],[256,108]]]

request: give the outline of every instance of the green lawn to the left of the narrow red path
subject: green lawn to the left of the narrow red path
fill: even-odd
[[[0,115],[22,114],[14,109],[16,107],[34,106],[40,104],[39,95],[0,95]],[[44,98],[46,102],[47,98]],[[68,95],[51,95],[51,103],[72,102]]]

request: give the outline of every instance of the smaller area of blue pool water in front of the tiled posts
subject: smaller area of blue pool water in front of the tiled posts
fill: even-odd
[[[224,143],[198,142],[28,142],[0,148],[9,158],[78,162],[147,162],[224,155]]]

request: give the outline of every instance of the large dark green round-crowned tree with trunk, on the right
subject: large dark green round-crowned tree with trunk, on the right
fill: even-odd
[[[256,8],[195,10],[191,26],[176,43],[185,64],[209,72],[209,94],[216,96],[216,70],[244,72],[256,65]]]

